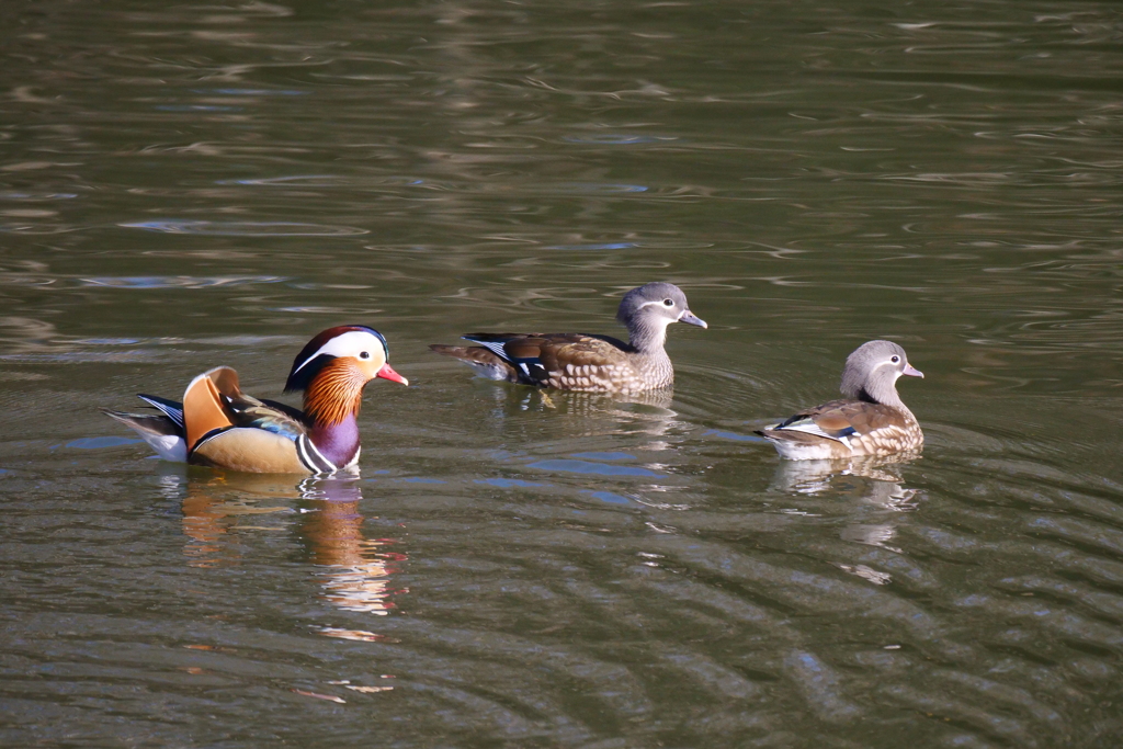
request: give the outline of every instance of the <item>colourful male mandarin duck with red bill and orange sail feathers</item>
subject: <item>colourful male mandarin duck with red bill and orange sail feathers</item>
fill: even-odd
[[[141,394],[161,415],[102,411],[166,460],[252,473],[332,473],[358,462],[355,417],[366,383],[384,377],[409,384],[387,356],[377,330],[340,326],[309,341],[292,363],[284,391],[304,392],[303,411],[246,395],[230,367],[192,380],[183,403]]]

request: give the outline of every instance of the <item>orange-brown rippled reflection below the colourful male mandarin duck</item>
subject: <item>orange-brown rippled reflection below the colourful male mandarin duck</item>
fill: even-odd
[[[322,597],[345,611],[385,615],[394,608],[390,597],[395,565],[407,556],[389,550],[390,538],[367,538],[363,531],[363,499],[357,474],[304,478],[294,484],[289,476],[206,472],[186,481],[183,497],[183,532],[191,539],[184,549],[189,564],[208,567],[232,564],[239,558],[237,544],[223,542],[231,531],[289,530],[290,522],[246,522],[247,515],[281,514],[285,520],[299,512],[295,524],[321,579]],[[202,474],[203,472],[199,472]],[[298,506],[293,508],[293,501]]]

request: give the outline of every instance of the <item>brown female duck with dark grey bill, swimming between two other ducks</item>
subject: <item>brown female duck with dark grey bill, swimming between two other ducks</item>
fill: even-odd
[[[669,387],[675,368],[663,346],[667,326],[704,320],[691,312],[686,294],[670,283],[632,289],[620,301],[617,320],[628,328],[629,342],[582,332],[471,332],[481,346],[429,348],[471,364],[491,380],[590,393],[631,394]]]

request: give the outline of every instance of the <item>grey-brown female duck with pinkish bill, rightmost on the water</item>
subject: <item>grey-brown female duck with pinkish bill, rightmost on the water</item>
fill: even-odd
[[[842,371],[841,401],[805,409],[757,433],[782,457],[821,460],[885,456],[917,450],[924,433],[897,395],[897,377],[924,374],[909,364],[905,349],[889,340],[859,346]]]

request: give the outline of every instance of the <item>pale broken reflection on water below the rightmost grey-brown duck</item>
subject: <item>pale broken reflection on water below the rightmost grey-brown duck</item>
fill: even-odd
[[[830,493],[857,500],[871,509],[912,512],[919,506],[920,496],[916,490],[904,486],[900,471],[902,464],[915,457],[902,454],[888,458],[849,460],[780,460],[773,488],[812,496]],[[878,546],[900,554],[900,548],[891,546],[897,535],[896,522],[897,519],[889,515],[882,523],[850,523],[840,536],[847,541]],[[860,570],[853,572],[861,574]]]

